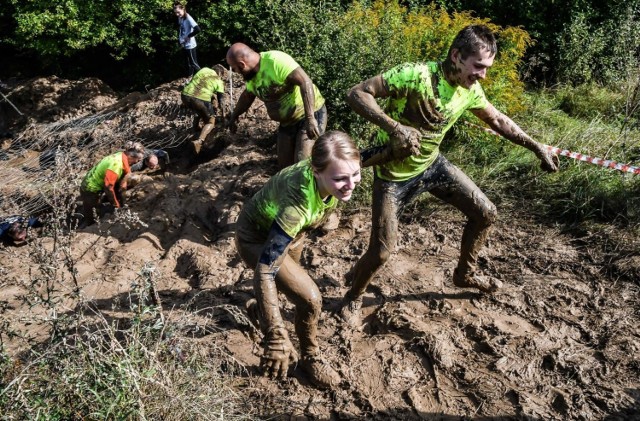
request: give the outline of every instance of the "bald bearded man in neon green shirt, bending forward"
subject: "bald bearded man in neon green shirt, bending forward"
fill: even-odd
[[[278,121],[278,165],[287,167],[310,156],[313,141],[324,133],[327,108],[324,98],[307,73],[281,51],[257,53],[242,43],[227,52],[227,63],[242,75],[246,89],[240,95],[228,125],[237,129],[237,119],[256,97],[264,101],[267,113]]]

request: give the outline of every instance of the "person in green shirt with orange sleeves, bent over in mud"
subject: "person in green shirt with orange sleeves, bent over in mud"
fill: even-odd
[[[127,189],[126,176],[131,172],[131,166],[143,158],[142,145],[138,142],[127,142],[124,152],[116,152],[103,158],[87,172],[80,184],[84,216],[81,226],[95,222],[94,213],[100,207],[103,194],[114,208],[122,206],[121,193]]]

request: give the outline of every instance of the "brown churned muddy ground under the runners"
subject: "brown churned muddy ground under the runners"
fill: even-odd
[[[343,274],[364,252],[370,229],[367,206],[343,207],[339,228],[311,233],[302,258],[324,297],[321,348],[343,382],[321,391],[298,369],[286,381],[261,378],[260,347],[244,310],[252,270],[233,237],[243,201],[276,171],[276,125],[256,101],[236,135],[214,132],[193,158],[185,143],[195,136],[192,116],[180,107],[179,88],[176,81],[119,97],[96,80],[4,86],[25,113],[2,106],[13,131],[0,161],[0,176],[11,181],[0,189],[5,214],[57,206],[51,195],[76,191],[86,169],[125,140],[165,147],[173,158],[168,173],[147,174],[128,192],[129,223],[105,220],[71,232],[75,274],[60,270],[58,294],[77,283],[103,314],[126,318],[132,283],[151,267],[164,316],[181,340],[226,350],[242,367],[229,384],[265,402],[263,417],[640,419],[638,239],[613,226],[569,230],[526,206],[500,209],[482,254],[485,272],[505,285],[493,295],[451,283],[462,215],[435,202],[408,209],[398,252],[365,296],[362,331],[332,315],[346,291]],[[241,89],[235,80],[235,98]],[[38,158],[58,146],[71,158],[42,169]],[[26,246],[0,248],[2,339],[10,355],[47,338],[34,323],[44,310],[25,298],[33,293],[34,249],[51,250],[56,241],[42,231]],[[293,332],[293,308],[281,298]],[[61,310],[74,305],[59,302]]]

